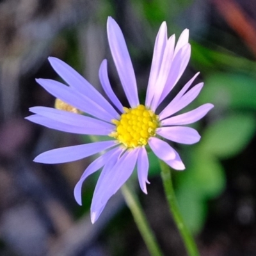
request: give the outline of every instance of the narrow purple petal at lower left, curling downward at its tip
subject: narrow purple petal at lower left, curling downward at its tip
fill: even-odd
[[[76,187],[74,189],[74,196],[75,196],[77,204],[82,205],[81,190],[82,190],[82,186],[83,186],[84,180],[89,175],[91,175],[94,172],[97,172],[97,170],[102,168],[102,166],[104,166],[107,163],[107,161],[109,160],[109,157],[111,155],[115,154],[118,150],[120,150],[118,147],[109,150],[104,155],[102,155],[102,156],[98,157],[97,159],[95,159],[95,161],[93,161],[86,168],[86,170],[84,171],[83,175],[81,176],[81,178],[77,182]]]

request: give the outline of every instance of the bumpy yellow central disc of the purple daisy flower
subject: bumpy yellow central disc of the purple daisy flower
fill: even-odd
[[[120,120],[112,120],[116,125],[116,131],[109,136],[116,138],[127,148],[147,145],[148,139],[156,135],[159,127],[158,116],[150,109],[139,105],[137,108],[124,108]]]

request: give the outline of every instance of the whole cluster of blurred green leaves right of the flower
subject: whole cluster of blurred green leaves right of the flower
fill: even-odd
[[[214,70],[209,76],[205,74],[205,87],[198,103],[215,105],[209,113],[212,120],[202,129],[200,143],[184,150],[185,159],[189,159],[185,172],[175,175],[180,210],[194,233],[204,227],[207,201],[225,189],[221,159],[241,153],[255,135],[255,82],[253,76],[244,74],[214,74]]]

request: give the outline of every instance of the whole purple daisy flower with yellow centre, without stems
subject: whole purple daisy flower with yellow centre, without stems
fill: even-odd
[[[92,223],[99,218],[109,198],[126,182],[135,167],[140,188],[147,193],[146,147],[151,148],[159,159],[173,169],[184,170],[185,166],[179,154],[165,140],[184,144],[198,142],[198,132],[183,125],[200,120],[213,107],[212,104],[204,104],[187,113],[175,115],[180,109],[188,106],[202,90],[203,83],[196,84],[189,90],[198,73],[186,83],[163,111],[157,112],[157,107],[172,91],[188,65],[191,54],[188,29],[182,32],[175,45],[175,35],[168,38],[166,22],[161,24],[154,45],[145,104],[139,102],[134,69],[124,35],[111,17],[108,18],[107,31],[111,54],[129,106],[122,106],[113,92],[106,60],[100,65],[99,78],[111,103],[72,67],[50,57],[52,68],[68,86],[51,79],[36,81],[68,107],[34,107],[29,109],[34,115],[27,117],[31,122],[59,131],[109,136],[109,140],[106,141],[49,150],[34,160],[47,164],[67,163],[103,152],[86,168],[74,189],[76,201],[81,205],[81,188],[84,180],[102,169],[92,198]],[[57,105],[60,104],[57,102]],[[84,115],[81,115],[82,113]]]

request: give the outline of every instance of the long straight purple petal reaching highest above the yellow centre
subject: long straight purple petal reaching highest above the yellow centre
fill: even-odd
[[[132,61],[125,44],[124,35],[115,20],[108,17],[108,42],[116,65],[116,70],[124,88],[125,95],[132,108],[139,104],[138,90]]]

